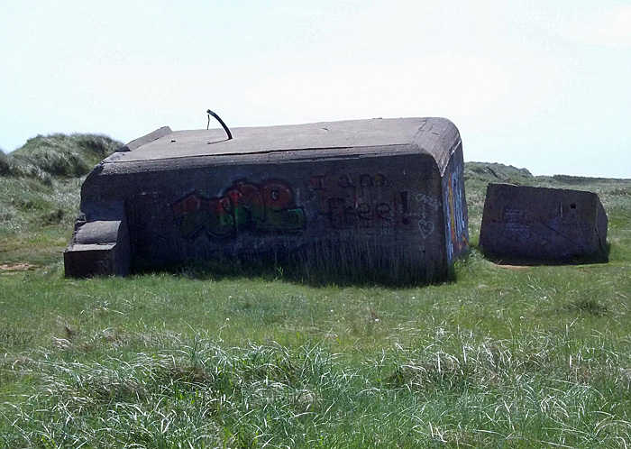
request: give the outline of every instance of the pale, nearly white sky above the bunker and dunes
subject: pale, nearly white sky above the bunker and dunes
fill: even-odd
[[[631,1],[12,1],[0,148],[444,116],[465,160],[631,178]],[[213,126],[218,126],[213,124]]]

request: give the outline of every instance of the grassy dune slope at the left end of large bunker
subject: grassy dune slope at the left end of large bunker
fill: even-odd
[[[59,260],[83,179],[122,145],[102,134],[50,134],[0,152],[0,262]]]

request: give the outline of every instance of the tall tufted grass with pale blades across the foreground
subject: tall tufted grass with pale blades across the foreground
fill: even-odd
[[[620,447],[629,374],[601,336],[471,331],[422,346],[231,347],[207,334],[79,361],[12,361],[39,388],[0,408],[6,447]],[[72,351],[69,347],[65,351]],[[626,358],[627,359],[627,358]],[[625,361],[628,363],[628,360]],[[15,366],[17,365],[17,368]],[[616,398],[616,400],[611,400]]]

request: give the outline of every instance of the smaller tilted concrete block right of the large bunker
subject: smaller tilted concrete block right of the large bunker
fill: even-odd
[[[508,260],[607,261],[607,222],[591,192],[489,184],[480,248]]]

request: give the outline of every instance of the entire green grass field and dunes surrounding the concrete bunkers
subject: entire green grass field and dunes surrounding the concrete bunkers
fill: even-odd
[[[117,144],[0,155],[0,447],[631,446],[631,180],[468,163],[471,254],[425,288],[64,279],[81,177]],[[490,181],[598,193],[609,263],[485,260]]]

